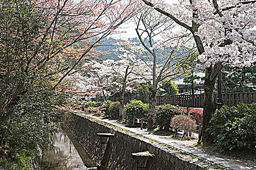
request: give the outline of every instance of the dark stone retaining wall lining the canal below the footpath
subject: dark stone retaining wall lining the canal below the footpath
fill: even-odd
[[[137,164],[132,159],[132,153],[144,151],[155,155],[152,170],[220,170],[216,165],[188,153],[90,117],[71,114],[67,120],[66,125],[97,163],[101,162],[102,153],[100,137],[96,134],[115,134],[108,170],[136,170]]]

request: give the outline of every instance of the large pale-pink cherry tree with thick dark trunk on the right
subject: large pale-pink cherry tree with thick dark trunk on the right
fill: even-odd
[[[217,76],[225,65],[250,66],[256,61],[255,0],[142,0],[192,34],[197,45],[197,68],[205,68],[202,141],[212,137],[205,130],[216,110],[213,96]],[[200,137],[199,136],[199,140]]]

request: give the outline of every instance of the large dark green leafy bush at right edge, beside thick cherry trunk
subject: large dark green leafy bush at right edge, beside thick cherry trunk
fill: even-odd
[[[255,150],[256,103],[223,106],[211,118],[208,132],[223,150],[234,148]]]

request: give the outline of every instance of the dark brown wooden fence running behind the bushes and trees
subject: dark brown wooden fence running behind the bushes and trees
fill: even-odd
[[[140,100],[144,103],[149,103],[148,96],[139,97],[124,97],[124,103],[130,100]],[[111,101],[120,101],[119,97],[111,97]],[[204,94],[196,95],[172,95],[172,96],[157,96],[157,105],[172,104],[179,105],[181,107],[203,107]],[[217,101],[217,94],[215,94],[215,100]],[[252,103],[256,102],[256,92],[247,93],[226,93],[222,94],[222,103],[228,106],[236,106],[239,102]]]

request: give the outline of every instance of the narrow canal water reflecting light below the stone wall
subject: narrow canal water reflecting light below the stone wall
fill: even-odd
[[[60,129],[49,136],[43,152],[41,170],[97,170],[90,156],[69,131]]]

